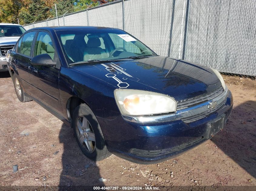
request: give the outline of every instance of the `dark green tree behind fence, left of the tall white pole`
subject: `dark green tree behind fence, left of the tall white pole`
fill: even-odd
[[[28,9],[22,8],[19,14],[20,20],[24,24],[29,24],[36,21],[42,21],[48,18],[49,7],[42,0],[32,0]]]

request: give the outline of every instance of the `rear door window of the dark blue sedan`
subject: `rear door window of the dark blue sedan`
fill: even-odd
[[[18,53],[24,54],[26,56],[30,56],[31,46],[33,43],[33,39],[35,37],[35,31],[26,33],[21,41],[20,48],[18,48]],[[19,45],[18,45],[19,47]]]

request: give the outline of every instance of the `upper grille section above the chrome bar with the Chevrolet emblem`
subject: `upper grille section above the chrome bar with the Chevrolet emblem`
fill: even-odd
[[[211,91],[210,93],[203,94],[201,96],[194,97],[187,100],[177,101],[177,110],[185,109],[194,105],[198,105],[202,102],[212,100],[214,97],[217,97],[218,95],[220,95],[223,91],[224,89],[222,88],[222,86],[220,86],[214,91]]]

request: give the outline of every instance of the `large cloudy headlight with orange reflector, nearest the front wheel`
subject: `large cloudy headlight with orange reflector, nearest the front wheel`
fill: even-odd
[[[124,115],[150,115],[176,111],[177,102],[167,95],[150,91],[116,89],[115,101]]]

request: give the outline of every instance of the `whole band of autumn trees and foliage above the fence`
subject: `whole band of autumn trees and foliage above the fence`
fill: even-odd
[[[72,13],[102,5],[115,0],[0,0],[0,22],[30,24],[35,20],[55,17],[55,3],[58,16],[66,11]],[[48,5],[48,6],[47,6]]]

